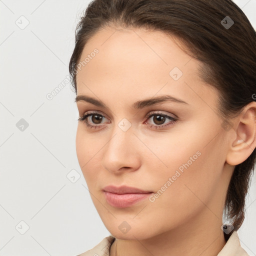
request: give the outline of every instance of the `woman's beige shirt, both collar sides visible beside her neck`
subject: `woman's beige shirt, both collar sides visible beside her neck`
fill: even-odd
[[[103,238],[92,249],[85,251],[77,256],[109,256],[110,247],[115,237],[112,235]],[[217,254],[217,256],[249,256],[241,247],[237,231],[233,231],[224,247]]]

